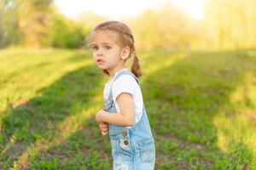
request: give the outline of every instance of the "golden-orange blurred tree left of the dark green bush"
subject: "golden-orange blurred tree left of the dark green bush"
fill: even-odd
[[[16,0],[23,44],[39,47],[48,34],[49,20],[55,13],[53,0]]]

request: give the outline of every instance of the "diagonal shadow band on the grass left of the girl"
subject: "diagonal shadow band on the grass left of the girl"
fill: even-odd
[[[21,165],[20,168],[25,168],[26,161],[37,156],[38,150],[65,139],[65,135],[77,128],[88,126],[86,119],[92,113],[86,109],[92,105],[95,109],[99,107],[92,104],[91,99],[101,90],[102,73],[95,65],[88,65],[39,90],[38,97],[21,101],[14,107],[10,105],[2,120],[0,167]],[[79,120],[73,118],[75,116],[79,116]],[[86,140],[83,142],[88,142]]]

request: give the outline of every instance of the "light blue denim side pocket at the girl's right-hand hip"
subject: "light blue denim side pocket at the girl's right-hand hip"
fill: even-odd
[[[142,161],[151,162],[155,158],[154,139],[145,139],[138,142]]]

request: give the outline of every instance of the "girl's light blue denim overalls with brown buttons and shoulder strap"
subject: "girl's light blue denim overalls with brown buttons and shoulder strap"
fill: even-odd
[[[140,86],[139,80],[131,71],[120,71],[113,82],[122,75],[131,75]],[[116,113],[112,98],[112,85],[108,99],[104,100],[105,110]],[[155,163],[154,138],[143,105],[143,116],[131,128],[109,124],[109,138],[112,145],[114,170],[153,170]]]

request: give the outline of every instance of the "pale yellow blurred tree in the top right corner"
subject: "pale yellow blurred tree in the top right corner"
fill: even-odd
[[[256,47],[256,0],[208,0],[206,22],[217,48]]]

